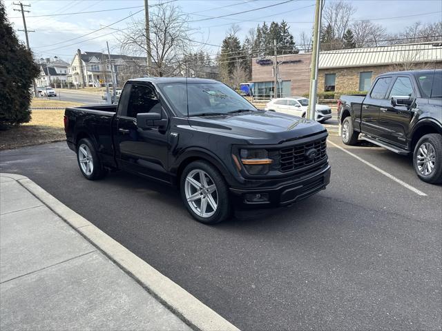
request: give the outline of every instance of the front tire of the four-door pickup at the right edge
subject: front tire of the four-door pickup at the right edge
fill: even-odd
[[[421,165],[418,165],[418,161],[423,160],[421,148],[423,148],[422,151],[428,150],[428,147],[431,146],[432,154],[434,155],[431,157],[431,155],[428,157],[428,161],[434,160],[434,167],[432,170],[425,174],[425,170],[427,170],[426,167],[423,166],[423,163]],[[419,158],[419,160],[418,160]],[[425,161],[424,161],[425,162]],[[433,164],[433,162],[432,162]],[[425,134],[419,141],[416,143],[416,147],[414,148],[413,152],[413,166],[414,171],[418,175],[420,179],[427,183],[431,184],[439,184],[442,183],[442,135],[437,133],[432,134]],[[421,166],[421,169],[419,169],[419,166]]]

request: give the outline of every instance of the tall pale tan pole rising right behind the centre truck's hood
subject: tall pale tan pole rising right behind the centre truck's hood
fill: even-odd
[[[311,53],[311,72],[310,72],[310,93],[309,108],[307,110],[308,119],[315,119],[316,114],[316,96],[318,89],[318,66],[320,49],[320,21],[323,17],[323,1],[316,0],[315,22],[313,32],[313,52]]]

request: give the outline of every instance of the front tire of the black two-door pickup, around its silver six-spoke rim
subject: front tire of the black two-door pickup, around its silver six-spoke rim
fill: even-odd
[[[202,214],[199,214],[196,212],[192,206],[191,202],[187,201],[186,197],[186,178],[191,174],[192,172],[198,172],[199,170],[202,170],[205,172],[209,177],[206,177],[208,180],[207,183],[211,185],[215,185],[216,188],[216,203],[217,207],[215,210],[211,208],[210,212],[213,212],[210,216],[203,217]],[[191,184],[189,184],[191,185]],[[195,191],[198,191],[195,187],[193,187]],[[216,224],[220,223],[226,219],[228,219],[231,215],[231,203],[229,201],[229,188],[227,187],[226,181],[224,181],[224,177],[222,177],[222,174],[216,169],[213,165],[206,161],[194,161],[192,163],[189,163],[189,165],[184,168],[184,171],[182,172],[181,179],[180,179],[180,191],[181,191],[181,198],[186,206],[187,211],[189,214],[192,215],[194,219],[197,221],[204,223],[204,224]],[[196,193],[196,192],[195,192]],[[205,199],[205,198],[204,198]],[[200,210],[201,204],[202,204],[202,198],[199,199],[200,203]],[[208,202],[207,202],[208,203]],[[198,208],[198,202],[195,201],[195,205],[197,205]],[[210,212],[208,214],[210,214]]]

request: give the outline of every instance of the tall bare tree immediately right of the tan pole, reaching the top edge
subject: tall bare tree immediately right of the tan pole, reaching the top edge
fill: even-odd
[[[330,25],[336,39],[342,39],[356,8],[346,1],[329,1],[323,12],[323,27]]]

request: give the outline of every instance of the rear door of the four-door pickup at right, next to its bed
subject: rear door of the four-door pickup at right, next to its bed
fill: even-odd
[[[379,126],[379,112],[386,108],[390,101],[387,100],[387,91],[390,88],[392,77],[379,78],[367,94],[361,109],[361,130],[364,133],[380,137],[383,132]]]

